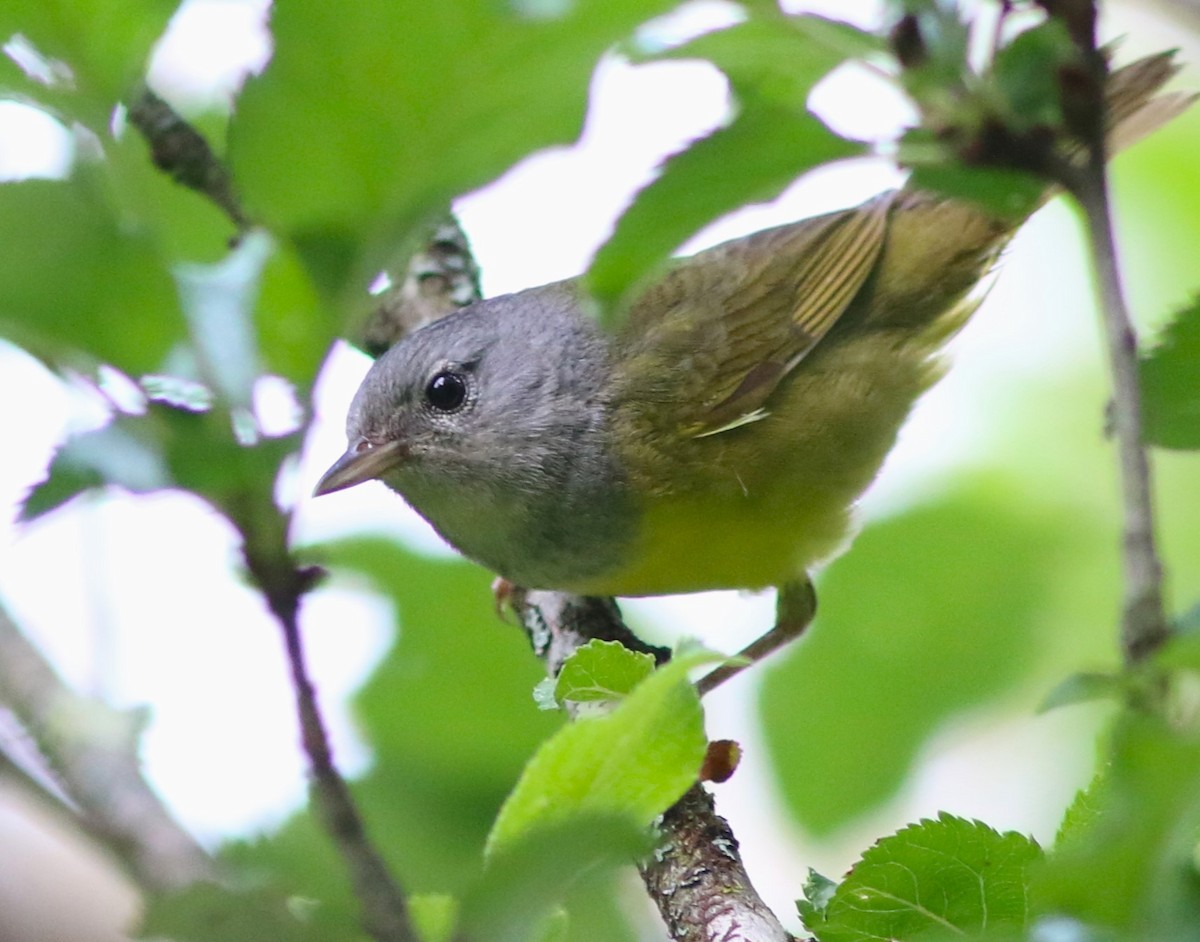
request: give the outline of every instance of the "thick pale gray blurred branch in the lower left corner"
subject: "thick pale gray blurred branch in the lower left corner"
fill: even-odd
[[[76,820],[139,886],[172,889],[215,875],[142,776],[139,719],[71,690],[2,610],[0,700],[34,737]]]

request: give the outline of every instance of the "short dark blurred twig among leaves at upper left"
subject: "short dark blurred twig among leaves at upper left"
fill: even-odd
[[[178,184],[208,197],[233,221],[238,232],[250,228],[224,164],[209,142],[150,89],[130,106],[132,124],[150,145],[155,166]]]

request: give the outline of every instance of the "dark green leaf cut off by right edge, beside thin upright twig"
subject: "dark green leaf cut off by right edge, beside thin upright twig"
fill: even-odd
[[[1144,440],[1200,448],[1200,299],[1180,311],[1142,354],[1139,378]]]

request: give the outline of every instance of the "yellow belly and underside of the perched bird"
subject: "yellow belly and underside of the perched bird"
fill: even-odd
[[[854,502],[937,372],[920,344],[854,338],[802,364],[761,421],[631,448],[642,499],[628,552],[566,588],[667,595],[798,577],[845,546]]]

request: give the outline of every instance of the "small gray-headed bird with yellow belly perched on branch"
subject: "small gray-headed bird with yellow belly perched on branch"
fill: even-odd
[[[1114,120],[1174,71],[1116,72]],[[1016,227],[901,187],[674,260],[613,331],[581,278],[472,304],[374,362],[314,493],[378,479],[524,588],[776,587],[757,660],[811,619],[809,571],[850,540]]]

